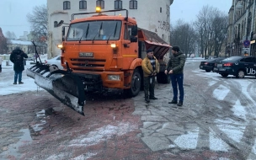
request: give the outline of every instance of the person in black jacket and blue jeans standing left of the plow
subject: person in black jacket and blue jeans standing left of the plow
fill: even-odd
[[[27,54],[21,51],[19,46],[16,46],[10,56],[10,61],[13,62],[13,70],[15,72],[13,84],[17,84],[17,79],[19,79],[19,84],[23,84],[21,80],[22,72],[24,71],[24,58],[28,58]]]

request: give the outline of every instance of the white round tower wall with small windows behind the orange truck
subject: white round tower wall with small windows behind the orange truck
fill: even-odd
[[[56,24],[61,20],[69,24],[72,13],[91,13],[95,12],[96,7],[101,7],[102,11],[127,9],[128,16],[136,19],[139,28],[155,32],[169,44],[172,3],[173,0],[47,0],[48,58],[61,54],[61,50],[57,48],[61,44],[61,27],[56,27]],[[125,12],[121,14],[125,15]]]

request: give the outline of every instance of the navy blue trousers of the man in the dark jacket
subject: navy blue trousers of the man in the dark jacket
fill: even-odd
[[[183,88],[183,79],[184,74],[170,74],[172,86],[173,86],[173,100],[178,100],[178,88],[179,87],[179,100],[184,101],[184,88]],[[178,84],[178,86],[177,86]]]

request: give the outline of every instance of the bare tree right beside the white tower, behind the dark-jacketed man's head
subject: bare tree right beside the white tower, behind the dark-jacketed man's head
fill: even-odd
[[[179,45],[186,56],[195,53],[195,42],[197,35],[191,24],[184,23],[181,19],[177,21],[175,26],[171,25],[171,44]]]

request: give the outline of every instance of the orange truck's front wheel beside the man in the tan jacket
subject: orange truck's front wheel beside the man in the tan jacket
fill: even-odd
[[[139,69],[136,68],[131,77],[131,88],[125,89],[125,95],[128,97],[135,97],[141,91],[141,74]]]

